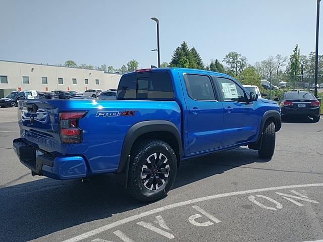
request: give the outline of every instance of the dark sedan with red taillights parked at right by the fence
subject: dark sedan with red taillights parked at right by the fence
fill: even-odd
[[[290,91],[285,92],[280,101],[281,115],[283,116],[306,116],[319,121],[319,101],[310,92]]]

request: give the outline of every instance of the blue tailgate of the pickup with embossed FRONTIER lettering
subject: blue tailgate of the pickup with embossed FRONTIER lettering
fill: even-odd
[[[55,155],[62,153],[59,107],[62,100],[21,100],[18,106],[20,136],[27,143]]]

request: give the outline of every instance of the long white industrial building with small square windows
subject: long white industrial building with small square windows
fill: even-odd
[[[117,89],[121,74],[98,70],[0,61],[0,90],[17,91]],[[8,90],[5,91],[4,90]]]

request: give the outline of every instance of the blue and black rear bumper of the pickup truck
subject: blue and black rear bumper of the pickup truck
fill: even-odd
[[[88,175],[85,160],[81,156],[53,156],[41,150],[36,152],[22,138],[15,139],[13,145],[20,162],[38,175],[60,180]]]

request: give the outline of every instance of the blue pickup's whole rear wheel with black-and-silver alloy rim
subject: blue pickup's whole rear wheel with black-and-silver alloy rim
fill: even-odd
[[[164,198],[171,189],[177,173],[177,159],[172,147],[161,140],[145,140],[137,144],[131,152],[131,157],[128,194],[142,202]]]

